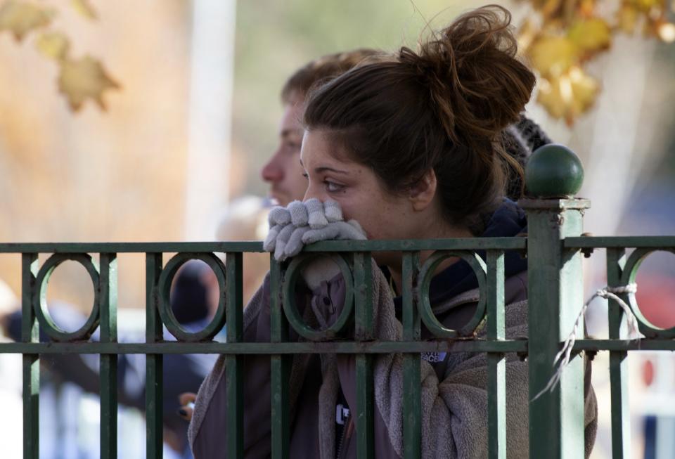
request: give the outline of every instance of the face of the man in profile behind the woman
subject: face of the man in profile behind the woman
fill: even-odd
[[[298,99],[285,105],[279,126],[279,145],[260,172],[262,179],[270,184],[271,198],[283,206],[293,200],[302,200],[307,190],[307,180],[302,176],[304,170],[300,166],[303,102]]]

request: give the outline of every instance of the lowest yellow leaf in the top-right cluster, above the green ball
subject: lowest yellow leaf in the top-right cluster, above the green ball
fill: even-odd
[[[555,118],[564,118],[567,124],[591,108],[598,96],[598,82],[579,67],[572,67],[565,75],[539,80],[537,101]]]

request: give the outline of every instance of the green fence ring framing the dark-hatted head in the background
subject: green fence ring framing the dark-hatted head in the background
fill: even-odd
[[[183,266],[186,261],[200,260],[204,261],[213,270],[218,280],[219,294],[218,294],[218,309],[208,325],[198,332],[191,332],[186,330],[174,316],[174,311],[171,309],[171,285],[178,272],[179,268]],[[158,309],[162,323],[169,332],[176,337],[176,340],[195,342],[211,340],[225,324],[225,265],[212,253],[192,253],[184,252],[175,254],[174,257],[167,261],[167,264],[162,269],[160,279],[158,282],[159,304]]]

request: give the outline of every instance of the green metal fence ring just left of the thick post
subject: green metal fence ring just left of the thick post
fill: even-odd
[[[431,279],[438,266],[450,257],[458,257],[466,261],[478,280],[478,290],[480,297],[476,311],[471,320],[464,325],[460,330],[451,330],[445,328],[442,323],[436,318],[429,300],[429,288]],[[420,305],[420,318],[424,325],[429,329],[435,337],[441,338],[456,338],[473,335],[475,328],[480,324],[485,316],[485,308],[487,306],[487,299],[485,295],[487,286],[487,269],[485,262],[474,252],[434,252],[431,257],[425,261],[424,266],[420,269],[420,283],[418,288],[418,304]]]

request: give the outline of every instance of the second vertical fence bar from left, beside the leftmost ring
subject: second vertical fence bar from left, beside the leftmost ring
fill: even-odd
[[[101,254],[101,342],[117,342],[117,254]],[[117,354],[101,354],[101,459],[117,458]]]

